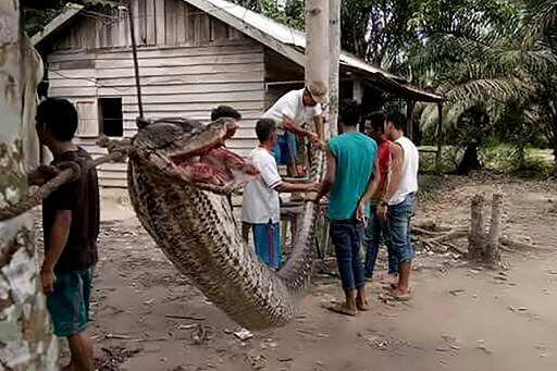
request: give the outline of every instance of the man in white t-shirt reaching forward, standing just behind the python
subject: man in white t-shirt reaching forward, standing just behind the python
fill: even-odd
[[[283,182],[271,150],[276,144],[275,122],[261,119],[256,133],[259,146],[253,148],[248,160],[257,168],[261,177],[246,185],[242,202],[244,239],[248,242],[251,227],[256,253],[272,269],[278,269],[281,261],[281,209],[280,191],[317,191],[319,184],[295,184]]]

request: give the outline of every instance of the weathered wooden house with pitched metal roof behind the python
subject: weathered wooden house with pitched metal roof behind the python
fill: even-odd
[[[245,118],[230,148],[246,154],[262,112],[304,86],[304,33],[224,0],[132,0],[131,7],[146,116],[207,122],[212,108],[230,104]],[[46,63],[48,96],[75,103],[77,141],[95,156],[104,153],[95,145],[100,135],[136,133],[129,29],[124,7],[67,4],[32,39]],[[441,100],[347,52],[341,81],[342,98],[371,106],[381,91],[409,102]],[[102,186],[126,186],[125,164],[102,165],[99,175]]]

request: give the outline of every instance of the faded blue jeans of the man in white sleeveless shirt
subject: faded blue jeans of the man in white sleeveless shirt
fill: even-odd
[[[413,248],[410,240],[410,219],[413,217],[414,203],[416,196],[410,194],[406,196],[403,202],[388,207],[387,246],[391,246],[396,259],[401,263],[409,263],[413,258]]]

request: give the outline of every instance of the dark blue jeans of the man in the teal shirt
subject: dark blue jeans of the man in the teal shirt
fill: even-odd
[[[360,258],[363,223],[356,220],[332,220],[330,235],[335,247],[343,288],[363,287],[363,265]]]

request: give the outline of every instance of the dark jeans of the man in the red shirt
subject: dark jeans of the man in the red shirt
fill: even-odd
[[[370,220],[366,227],[364,245],[366,245],[366,262],[363,263],[363,275],[367,279],[373,277],[373,270],[375,269],[375,261],[377,260],[379,244],[381,242],[381,235],[384,239],[387,239],[388,232],[386,231],[386,223],[377,218],[375,214],[376,207],[371,206]],[[398,260],[396,253],[391,247],[392,244],[385,243],[388,252],[388,274],[398,273]]]

